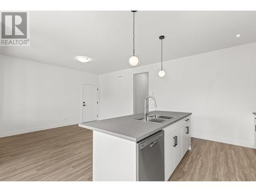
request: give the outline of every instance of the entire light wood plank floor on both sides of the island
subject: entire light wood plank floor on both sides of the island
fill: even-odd
[[[0,138],[0,181],[91,181],[92,140],[78,125]],[[169,181],[256,181],[256,150],[191,143]]]

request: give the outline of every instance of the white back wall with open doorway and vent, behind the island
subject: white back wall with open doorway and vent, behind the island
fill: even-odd
[[[254,147],[255,53],[253,43],[165,61],[164,78],[160,63],[100,75],[100,118],[133,114],[133,74],[148,71],[151,111],[192,112],[193,137]]]

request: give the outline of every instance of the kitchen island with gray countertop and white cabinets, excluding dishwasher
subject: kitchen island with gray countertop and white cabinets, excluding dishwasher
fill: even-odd
[[[191,113],[152,111],[151,115],[173,118],[162,123],[141,121],[141,113],[79,124],[93,130],[93,181],[137,181],[137,142],[160,130],[164,130],[164,180],[168,180],[190,148]]]

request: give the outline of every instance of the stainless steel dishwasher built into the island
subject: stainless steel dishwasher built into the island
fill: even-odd
[[[164,181],[164,131],[137,143],[137,181]]]

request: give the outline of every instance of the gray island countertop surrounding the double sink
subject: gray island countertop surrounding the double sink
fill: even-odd
[[[79,124],[79,126],[93,131],[98,131],[130,141],[138,142],[141,139],[144,139],[162,130],[164,127],[191,115],[191,113],[169,111],[152,111],[149,113],[149,115],[153,114],[175,116],[176,118],[170,119],[163,123],[135,120],[135,118],[143,118],[143,113],[140,113],[111,119],[81,123]]]

